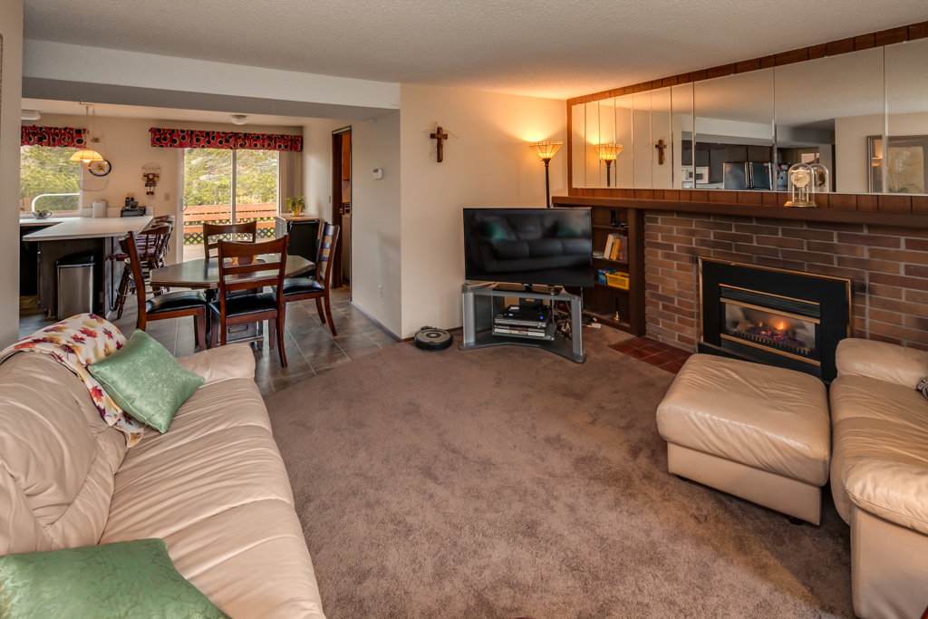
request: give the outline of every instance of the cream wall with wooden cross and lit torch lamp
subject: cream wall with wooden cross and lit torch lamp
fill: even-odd
[[[545,166],[528,148],[566,140],[558,99],[402,84],[400,179],[402,337],[430,325],[461,325],[462,209],[545,205]],[[435,123],[457,137],[438,163]],[[551,193],[567,193],[565,151],[551,161]]]

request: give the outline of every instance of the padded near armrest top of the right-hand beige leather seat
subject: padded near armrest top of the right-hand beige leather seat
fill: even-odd
[[[831,492],[850,522],[851,504],[928,535],[928,423],[855,417],[834,428]]]

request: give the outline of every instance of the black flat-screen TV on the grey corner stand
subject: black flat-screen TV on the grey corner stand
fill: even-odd
[[[464,277],[592,288],[589,209],[464,209]]]

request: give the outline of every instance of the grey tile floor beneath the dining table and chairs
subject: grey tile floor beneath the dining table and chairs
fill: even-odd
[[[284,341],[287,368],[281,368],[277,349],[272,350],[267,342],[260,350],[252,345],[257,360],[255,380],[262,393],[279,391],[399,343],[352,307],[351,292],[347,287],[332,290],[331,305],[335,329],[338,331],[335,337],[332,337],[328,326],[319,322],[315,301],[287,304],[287,335]],[[34,297],[20,299],[19,337],[26,337],[54,322],[54,319],[39,312]],[[135,298],[126,303],[122,318],[114,321],[114,324],[125,333],[135,329]],[[192,355],[194,352],[193,318],[150,322],[146,330],[174,356]],[[264,332],[267,332],[266,327]]]

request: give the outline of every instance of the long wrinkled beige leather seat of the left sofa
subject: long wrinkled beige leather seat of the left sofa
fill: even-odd
[[[101,541],[141,537],[164,539],[178,572],[230,616],[323,617],[287,471],[251,379],[201,387],[170,432],[146,434],[129,451]]]

